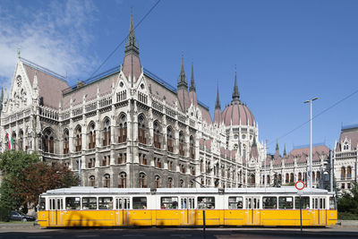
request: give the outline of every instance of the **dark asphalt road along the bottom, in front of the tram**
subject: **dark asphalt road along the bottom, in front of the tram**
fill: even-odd
[[[40,229],[38,226],[0,226],[0,238],[358,238],[358,228],[81,228]]]

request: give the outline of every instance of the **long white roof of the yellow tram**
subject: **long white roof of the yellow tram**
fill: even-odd
[[[95,187],[71,187],[60,188],[54,190],[48,190],[42,195],[59,195],[59,194],[149,194],[150,188],[95,188]],[[283,186],[267,187],[267,188],[158,188],[155,193],[243,193],[243,194],[255,194],[255,193],[297,193],[298,190],[295,187]],[[334,194],[334,192],[328,192],[324,189],[316,188],[304,188],[303,194]]]

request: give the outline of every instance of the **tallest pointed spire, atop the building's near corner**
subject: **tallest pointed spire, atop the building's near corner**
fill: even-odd
[[[131,85],[141,76],[140,50],[134,34],[133,15],[129,24],[129,35],[124,49],[124,64],[122,71]]]

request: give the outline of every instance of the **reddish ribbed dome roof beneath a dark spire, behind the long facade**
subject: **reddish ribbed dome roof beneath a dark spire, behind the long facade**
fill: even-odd
[[[255,126],[255,118],[251,110],[239,100],[233,100],[224,109],[222,119],[226,126],[230,126],[231,122],[233,122],[233,125]]]

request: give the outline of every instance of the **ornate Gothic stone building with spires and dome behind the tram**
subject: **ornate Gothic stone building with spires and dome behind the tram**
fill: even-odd
[[[190,85],[189,85],[190,83]],[[64,163],[97,187],[252,187],[307,181],[309,148],[267,154],[259,126],[240,99],[222,111],[217,89],[214,119],[197,99],[194,71],[183,57],[176,89],[142,67],[131,17],[124,61],[70,87],[60,75],[18,58],[13,86],[2,98],[0,143],[38,151]],[[329,160],[314,147],[315,187]],[[266,180],[265,180],[266,175]]]

